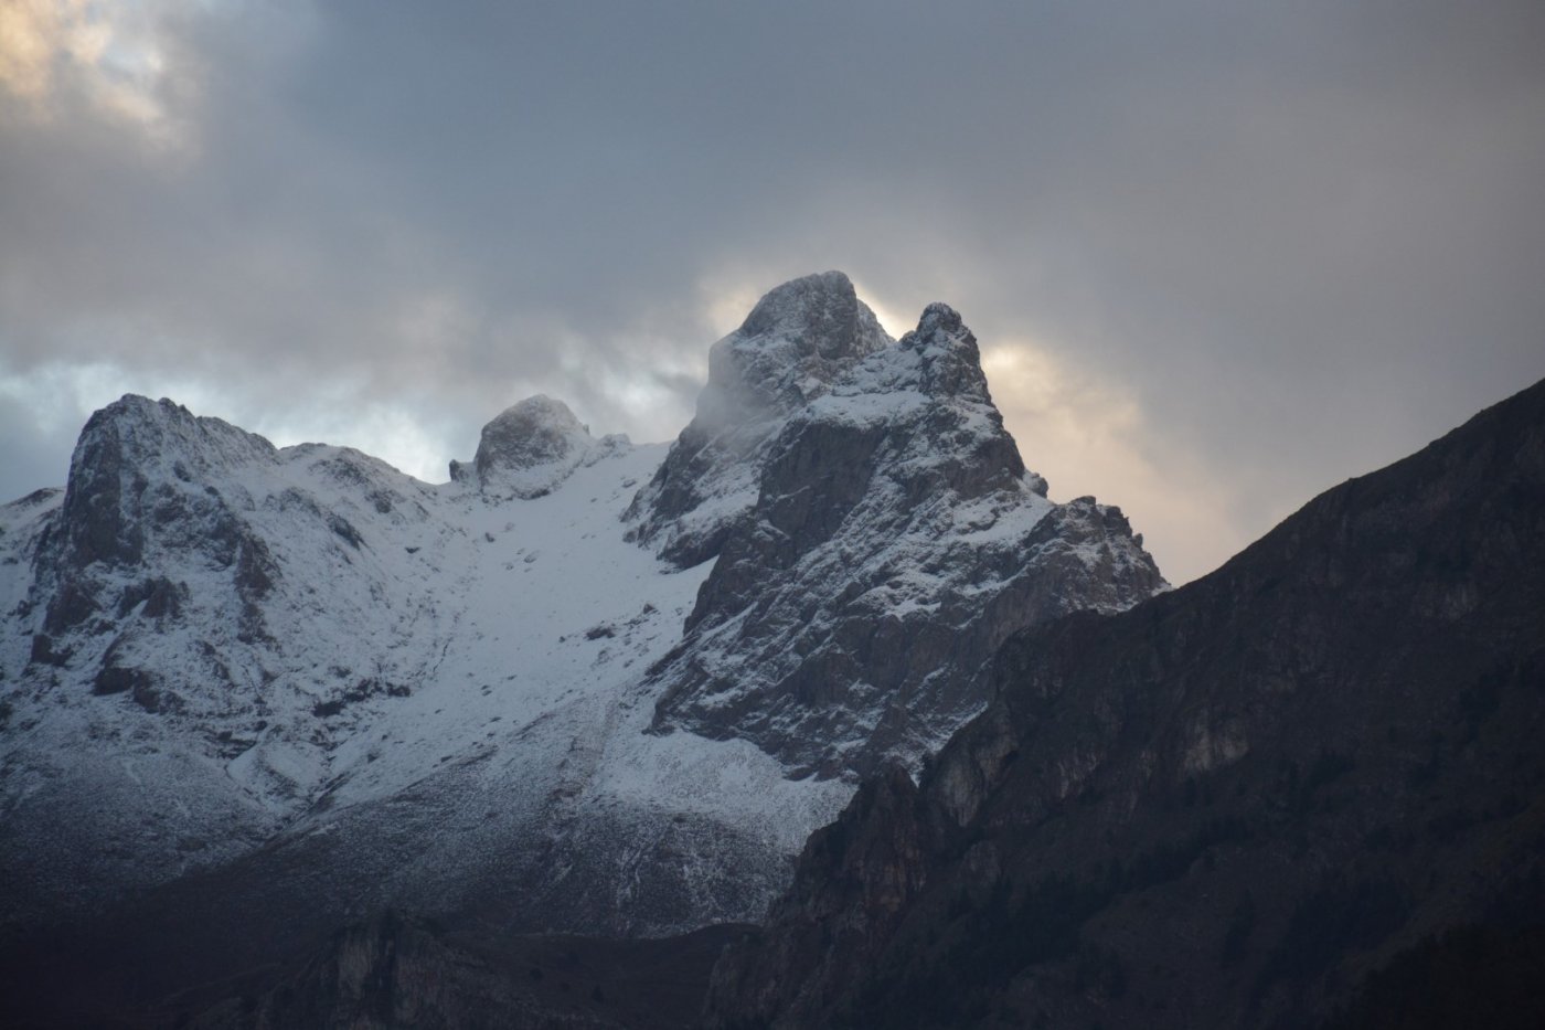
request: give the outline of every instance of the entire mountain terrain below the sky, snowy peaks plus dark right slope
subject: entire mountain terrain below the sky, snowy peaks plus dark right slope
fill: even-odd
[[[1170,591],[827,272],[669,445],[124,397],[0,569],[6,1025],[1545,1010],[1545,384]]]

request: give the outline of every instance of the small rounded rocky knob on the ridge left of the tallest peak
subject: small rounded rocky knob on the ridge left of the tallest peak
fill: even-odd
[[[595,447],[590,428],[567,404],[536,394],[484,425],[473,464],[453,461],[451,478],[476,481],[484,493],[542,496],[567,479]]]

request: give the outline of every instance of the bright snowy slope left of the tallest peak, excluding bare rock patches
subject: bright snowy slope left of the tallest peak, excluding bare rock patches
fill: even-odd
[[[6,566],[11,625],[36,633],[6,634],[0,659],[15,684],[0,840],[49,899],[161,882],[445,787],[482,834],[689,812],[765,826],[757,849],[789,854],[842,792],[785,779],[749,744],[643,733],[640,673],[708,571],[623,540],[618,517],[661,456],[613,438],[545,495],[490,501],[480,484],[275,450],[125,397],[93,419],[71,475],[76,507],[114,495],[114,520],[71,535],[59,495],[6,509],[6,541],[42,543],[31,591],[26,555]],[[168,506],[176,518],[159,518]],[[96,557],[133,534],[138,560]],[[139,600],[151,580],[173,585],[156,614]],[[94,611],[48,603],[66,595]],[[379,834],[355,829],[369,852]],[[484,858],[454,835],[425,844],[417,861],[442,880]]]

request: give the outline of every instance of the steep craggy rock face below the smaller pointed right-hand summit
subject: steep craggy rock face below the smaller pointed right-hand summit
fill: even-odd
[[[978,670],[1009,633],[1163,588],[1119,509],[1046,500],[946,305],[759,447],[754,504],[652,670],[657,732],[749,739],[794,775],[916,762],[986,702]]]

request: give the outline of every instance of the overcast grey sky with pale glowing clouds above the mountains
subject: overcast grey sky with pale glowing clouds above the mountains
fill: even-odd
[[[538,391],[667,439],[837,268],[1185,582],[1545,376],[1542,54],[1539,0],[3,0],[0,495],[125,391],[433,481]]]

